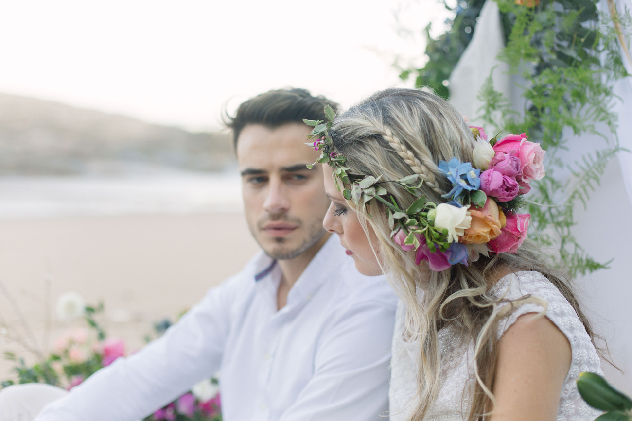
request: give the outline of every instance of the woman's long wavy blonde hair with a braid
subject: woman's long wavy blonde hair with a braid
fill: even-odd
[[[446,100],[420,90],[394,88],[377,92],[360,104],[337,116],[331,132],[334,148],[347,158],[348,174],[382,175],[382,180],[396,180],[419,174],[424,183],[411,194],[398,184],[384,184],[406,208],[420,194],[428,201],[444,203],[441,194],[451,189],[437,164],[456,157],[471,162],[475,144],[465,120]],[[500,310],[506,300],[489,294],[495,271],[538,271],[566,297],[583,322],[588,335],[593,332],[588,319],[569,287],[568,277],[552,268],[549,258],[526,239],[516,254],[500,253],[469,266],[456,264],[448,270],[422,271],[415,264],[415,252],[403,251],[391,239],[386,208],[370,201],[357,208],[360,220],[370,223],[378,244],[384,273],[406,305],[406,331],[395,332],[408,340],[418,340],[418,405],[412,420],[421,420],[437,399],[441,387],[441,350],[439,330],[450,326],[463,341],[473,341],[476,382],[471,396],[468,420],[478,420],[493,408],[494,377],[497,360],[497,326],[516,305],[545,302],[525,296]],[[425,294],[419,299],[417,290]],[[465,342],[465,343],[466,343]],[[594,341],[593,341],[594,343]]]

